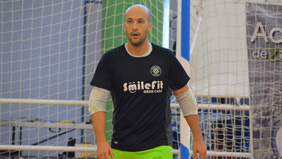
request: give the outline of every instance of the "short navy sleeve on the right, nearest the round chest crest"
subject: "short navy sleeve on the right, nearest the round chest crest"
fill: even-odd
[[[171,60],[170,60],[170,74],[169,74],[169,85],[171,90],[179,90],[180,88],[187,85],[190,77],[187,75],[186,71],[174,56],[171,53]]]

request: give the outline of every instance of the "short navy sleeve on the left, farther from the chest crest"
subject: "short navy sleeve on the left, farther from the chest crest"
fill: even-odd
[[[94,76],[90,85],[111,90],[112,88],[112,71],[111,71],[111,58],[105,53],[100,59],[98,66],[95,70]]]

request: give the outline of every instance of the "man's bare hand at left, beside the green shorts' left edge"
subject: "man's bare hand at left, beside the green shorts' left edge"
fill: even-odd
[[[111,158],[115,159],[113,150],[108,142],[97,143],[97,154],[99,159],[109,159],[109,154]]]

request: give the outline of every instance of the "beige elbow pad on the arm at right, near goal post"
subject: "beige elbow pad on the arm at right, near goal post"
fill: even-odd
[[[181,95],[176,95],[175,97],[184,117],[198,114],[198,104],[190,88],[188,88],[186,92],[182,93]]]

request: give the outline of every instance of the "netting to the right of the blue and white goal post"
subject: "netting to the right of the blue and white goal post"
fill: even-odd
[[[281,5],[191,1],[191,87],[212,158],[281,158]]]

